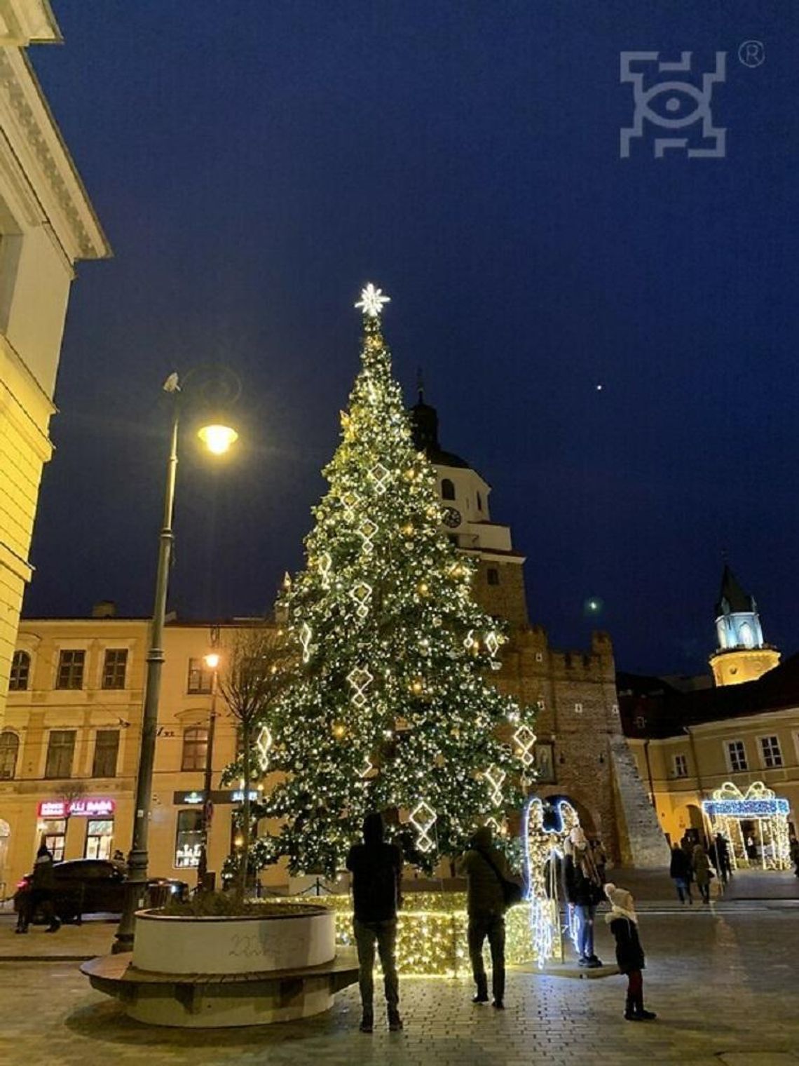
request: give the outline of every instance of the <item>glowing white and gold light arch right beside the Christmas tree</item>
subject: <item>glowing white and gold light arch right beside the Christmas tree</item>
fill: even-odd
[[[577,812],[565,800],[554,807],[556,824],[544,825],[548,810],[538,796],[527,802],[522,821],[529,936],[539,969],[551,960],[564,960],[564,926],[558,903],[558,867],[566,840],[580,825]],[[576,946],[574,916],[567,907],[569,936]]]

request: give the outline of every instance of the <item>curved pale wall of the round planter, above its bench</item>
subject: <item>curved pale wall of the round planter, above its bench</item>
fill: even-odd
[[[336,916],[327,907],[243,918],[136,914],[133,966],[150,973],[265,973],[321,966],[335,956]]]

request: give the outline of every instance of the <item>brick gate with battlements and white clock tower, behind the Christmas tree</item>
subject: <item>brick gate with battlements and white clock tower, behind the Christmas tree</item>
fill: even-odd
[[[525,558],[513,548],[509,528],[491,518],[490,485],[442,449],[437,411],[421,392],[411,418],[417,447],[438,474],[444,529],[476,561],[475,598],[509,623],[510,642],[495,681],[538,708],[534,791],[570,800],[614,861],[663,866],[666,841],[621,729],[610,637],[594,632],[590,648],[580,651],[550,646],[545,629],[529,624]]]

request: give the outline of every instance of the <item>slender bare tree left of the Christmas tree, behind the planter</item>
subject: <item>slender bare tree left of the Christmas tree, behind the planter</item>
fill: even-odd
[[[244,780],[241,867],[237,894],[243,899],[247,883],[250,849],[250,801],[254,746],[264,718],[286,688],[292,667],[281,630],[263,625],[235,630],[223,648],[218,683],[230,714],[239,724],[242,739]],[[258,764],[256,764],[258,765]],[[259,768],[260,769],[260,768]]]

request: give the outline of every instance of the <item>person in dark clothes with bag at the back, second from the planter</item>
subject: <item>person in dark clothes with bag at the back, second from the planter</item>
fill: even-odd
[[[486,937],[491,949],[491,992],[493,1006],[505,1010],[505,911],[521,899],[521,888],[507,859],[492,846],[491,828],[482,826],[470,841],[471,846],[458,863],[467,879],[469,915],[469,957],[477,986],[473,1003],[488,1003],[488,979],[483,963]]]

